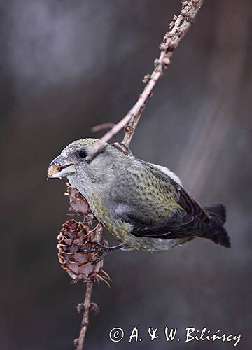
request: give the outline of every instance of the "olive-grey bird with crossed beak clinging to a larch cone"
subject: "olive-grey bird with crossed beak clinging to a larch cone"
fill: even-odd
[[[168,251],[196,237],[230,248],[223,204],[202,207],[183,188],[179,176],[134,157],[125,145],[90,138],[73,141],[48,167],[48,178],[64,176],[85,197],[97,221],[120,242],[99,246],[103,255],[117,248]]]

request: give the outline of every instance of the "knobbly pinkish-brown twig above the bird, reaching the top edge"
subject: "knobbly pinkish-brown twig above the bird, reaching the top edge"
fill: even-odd
[[[170,58],[173,55],[174,49],[177,48],[182,38],[188,32],[188,29],[193,24],[197,13],[199,12],[204,0],[190,0],[183,1],[181,13],[179,16],[174,16],[172,22],[169,25],[170,31],[165,34],[162,43],[160,44],[160,57],[155,59],[155,69],[151,75],[144,77],[144,83],[146,87],[141,93],[136,104],[130,109],[126,116],[120,120],[115,126],[109,130],[102,139],[102,142],[109,141],[114,137],[120,130],[125,129],[125,137],[123,142],[126,146],[130,145],[130,141],[136,130],[137,124],[141,117],[141,113],[144,111],[144,107],[149,97],[151,97],[153,88],[155,87],[158,80],[162,77],[164,69],[170,64]]]

